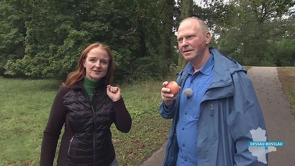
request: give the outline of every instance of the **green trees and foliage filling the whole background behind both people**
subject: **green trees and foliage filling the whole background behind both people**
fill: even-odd
[[[185,4],[3,0],[0,76],[65,78],[75,70],[83,49],[102,42],[114,54],[118,81],[165,77],[169,66],[182,64],[173,31]],[[189,8],[212,30],[210,46],[242,65],[294,65],[293,45],[283,45],[284,40],[294,43],[293,1],[210,0],[203,5]]]

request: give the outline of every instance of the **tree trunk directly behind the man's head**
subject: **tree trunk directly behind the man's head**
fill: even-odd
[[[186,17],[190,17],[193,14],[193,0],[183,0],[181,1],[181,16],[180,19],[184,19]],[[187,61],[179,55],[178,58],[178,69],[182,70],[185,65],[187,64]]]

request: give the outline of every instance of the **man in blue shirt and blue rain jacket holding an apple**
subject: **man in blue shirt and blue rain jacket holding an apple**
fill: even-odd
[[[165,88],[167,81],[161,89],[160,115],[173,118],[162,165],[267,165],[248,150],[250,131],[266,131],[251,80],[236,60],[209,48],[210,39],[200,19],[179,25],[179,52],[188,64],[178,73],[177,95]],[[260,137],[266,140],[265,132]],[[264,147],[255,150],[267,162]]]

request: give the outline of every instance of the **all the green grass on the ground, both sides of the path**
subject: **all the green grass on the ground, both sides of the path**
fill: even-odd
[[[295,114],[295,68],[280,67],[278,73]],[[0,165],[39,165],[43,130],[59,84],[0,78]],[[133,119],[129,133],[112,126],[120,165],[139,165],[166,141],[171,120],[158,113],[161,85],[162,81],[146,81],[120,86]]]

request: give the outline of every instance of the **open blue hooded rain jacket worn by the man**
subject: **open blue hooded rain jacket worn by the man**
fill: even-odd
[[[198,121],[197,148],[199,166],[229,165],[267,165],[258,161],[248,150],[248,141],[253,141],[250,130],[259,127],[265,130],[264,118],[251,80],[236,60],[223,56],[216,49],[209,48],[214,56],[214,75],[201,104]],[[177,83],[183,87],[188,76],[187,67],[178,73]],[[179,94],[182,94],[183,89]],[[163,166],[176,164],[178,144],[176,123],[179,119],[180,95],[176,96],[172,110],[164,109],[162,102],[160,115],[165,119],[173,118]],[[185,137],[185,135],[184,135]],[[265,134],[266,140],[267,136]],[[259,153],[267,153],[264,147]]]

